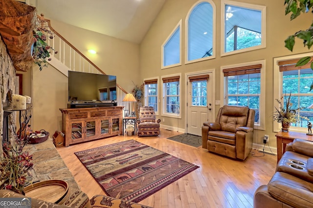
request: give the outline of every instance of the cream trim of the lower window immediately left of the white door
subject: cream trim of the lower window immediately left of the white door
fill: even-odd
[[[179,76],[179,113],[178,114],[177,113],[166,113],[166,99],[165,99],[165,89],[164,89],[163,78],[177,77],[177,76]],[[172,118],[181,118],[181,112],[182,112],[182,103],[181,103],[181,73],[161,76],[161,80],[162,80],[162,84],[161,84],[161,90],[162,90],[162,111],[161,111],[161,116],[172,117]]]

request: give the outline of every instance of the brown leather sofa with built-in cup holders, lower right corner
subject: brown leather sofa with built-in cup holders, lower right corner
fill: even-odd
[[[254,208],[313,208],[313,142],[294,139],[267,185],[254,193]]]

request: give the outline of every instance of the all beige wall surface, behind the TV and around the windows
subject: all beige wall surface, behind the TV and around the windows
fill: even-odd
[[[239,1],[239,0],[238,0]],[[251,0],[240,0],[241,2],[251,3]],[[264,49],[221,57],[221,1],[213,0],[216,6],[216,58],[201,62],[184,64],[184,38],[185,38],[185,18],[197,0],[167,0],[152,24],[146,37],[140,45],[97,34],[78,27],[70,26],[61,22],[51,20],[52,27],[63,37],[72,43],[85,56],[93,61],[106,74],[116,75],[117,83],[126,91],[130,92],[134,85],[141,84],[144,78],[161,77],[181,73],[182,83],[185,73],[196,72],[207,69],[215,69],[216,80],[214,97],[220,97],[220,68],[224,65],[239,64],[254,60],[266,60],[266,130],[256,131],[254,142],[262,143],[261,137],[269,134],[269,145],[276,147],[275,133],[272,127],[273,113],[273,58],[286,55],[308,52],[303,48],[301,41],[296,41],[293,53],[284,48],[284,39],[300,29],[306,29],[312,23],[312,15],[302,15],[293,21],[289,16],[285,16],[283,0],[254,0],[254,4],[265,5],[267,7],[267,47]],[[40,11],[39,11],[40,13]],[[311,16],[310,16],[311,15]],[[309,16],[309,18],[308,18]],[[168,38],[179,20],[182,19],[182,65],[169,69],[161,70],[161,45]],[[96,49],[97,54],[91,56],[87,53],[89,47]],[[38,67],[33,69],[33,128],[44,128],[49,132],[62,130],[61,112],[59,108],[67,105],[67,77],[53,70],[53,68],[43,69],[39,72]],[[182,84],[183,104],[181,112],[185,112],[184,91],[185,85]],[[161,90],[159,85],[159,92]],[[160,97],[161,99],[161,97]],[[215,106],[216,111],[220,106]],[[159,116],[161,118],[161,116]],[[164,117],[162,125],[174,126],[185,129],[185,115],[179,122],[175,118]],[[161,119],[162,120],[162,119]]]

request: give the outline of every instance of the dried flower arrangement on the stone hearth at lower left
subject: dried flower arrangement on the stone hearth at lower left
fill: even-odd
[[[23,194],[23,189],[29,178],[30,171],[33,168],[32,155],[23,151],[27,144],[29,135],[23,128],[29,127],[28,122],[31,116],[25,115],[23,123],[25,125],[14,132],[15,139],[3,143],[3,155],[0,157],[0,189],[8,189]],[[23,135],[22,133],[23,132]]]

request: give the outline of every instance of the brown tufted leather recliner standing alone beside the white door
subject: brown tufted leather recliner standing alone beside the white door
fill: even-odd
[[[202,148],[245,160],[252,149],[254,115],[246,106],[223,106],[215,122],[203,123]]]

